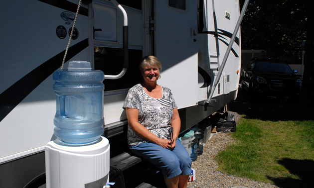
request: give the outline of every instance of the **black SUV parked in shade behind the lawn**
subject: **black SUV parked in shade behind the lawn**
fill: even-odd
[[[288,99],[298,96],[302,81],[297,70],[277,60],[252,59],[241,73],[241,89],[252,95]]]

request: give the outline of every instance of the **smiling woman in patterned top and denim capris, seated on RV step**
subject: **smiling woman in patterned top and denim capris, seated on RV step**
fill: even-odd
[[[161,64],[146,56],[140,70],[143,82],[129,90],[123,105],[129,148],[161,169],[167,188],[186,188],[191,158],[178,139],[181,120],[172,93],[157,84]]]

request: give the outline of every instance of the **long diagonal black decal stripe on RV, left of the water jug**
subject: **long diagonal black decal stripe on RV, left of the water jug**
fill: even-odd
[[[68,61],[86,47],[88,47],[88,38],[70,47],[65,61]],[[65,50],[44,62],[0,94],[0,121],[62,65],[64,53]]]

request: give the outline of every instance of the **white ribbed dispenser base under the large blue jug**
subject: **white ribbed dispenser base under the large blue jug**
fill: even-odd
[[[102,188],[109,182],[110,145],[105,137],[89,146],[45,146],[47,188]]]

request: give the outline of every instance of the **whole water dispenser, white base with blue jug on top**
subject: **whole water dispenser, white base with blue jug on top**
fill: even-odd
[[[47,188],[103,188],[109,182],[110,144],[104,132],[104,73],[72,61],[53,73],[54,134],[45,146]]]

